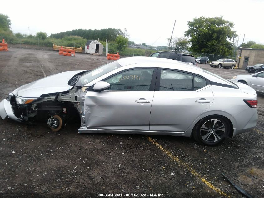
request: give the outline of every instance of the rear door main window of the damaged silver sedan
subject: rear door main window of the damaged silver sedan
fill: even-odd
[[[160,91],[192,91],[192,74],[161,70]]]

